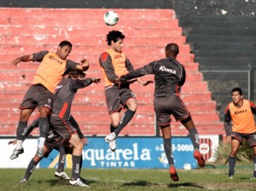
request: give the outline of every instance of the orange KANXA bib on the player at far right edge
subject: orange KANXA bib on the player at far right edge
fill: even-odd
[[[254,104],[253,106],[252,104],[252,102],[243,99],[242,106],[236,107],[233,102],[230,102],[227,108],[230,109],[232,131],[245,134],[253,133],[256,131],[254,115],[251,109]]]

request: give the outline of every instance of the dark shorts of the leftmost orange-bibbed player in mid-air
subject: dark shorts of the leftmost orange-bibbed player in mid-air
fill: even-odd
[[[53,106],[53,97],[54,94],[47,90],[44,85],[33,84],[26,91],[26,95],[20,103],[20,109],[34,110],[36,107],[38,107],[38,110],[43,107],[49,107],[51,109]]]

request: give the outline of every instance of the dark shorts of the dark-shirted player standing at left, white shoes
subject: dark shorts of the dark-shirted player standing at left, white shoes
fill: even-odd
[[[63,120],[54,114],[49,117],[49,122],[52,125],[52,129],[62,137],[63,141],[69,141],[73,134],[77,133],[77,130],[67,120]]]

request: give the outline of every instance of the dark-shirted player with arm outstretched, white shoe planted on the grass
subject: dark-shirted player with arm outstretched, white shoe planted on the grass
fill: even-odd
[[[84,143],[80,140],[77,130],[70,122],[71,106],[77,90],[92,83],[98,84],[100,82],[100,78],[84,77],[84,72],[73,70],[69,72],[68,78],[61,79],[61,82],[57,84],[55,88],[53,109],[49,118],[52,129],[62,137],[63,142],[69,142],[73,145],[73,169],[72,177],[69,182],[73,186],[79,187],[88,187],[88,185],[80,179],[80,163]]]

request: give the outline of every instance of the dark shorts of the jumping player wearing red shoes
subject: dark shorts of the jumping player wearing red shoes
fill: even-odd
[[[176,94],[168,97],[154,97],[154,112],[157,124],[160,126],[171,123],[171,114],[177,121],[190,116],[189,110]]]

